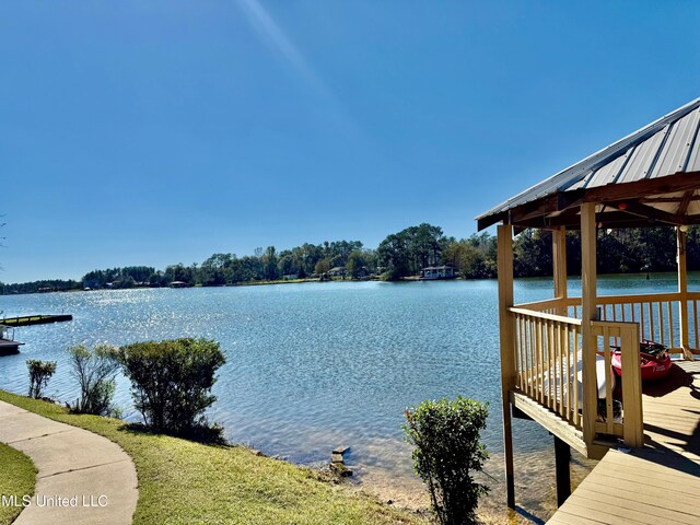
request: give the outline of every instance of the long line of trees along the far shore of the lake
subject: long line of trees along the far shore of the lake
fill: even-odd
[[[700,229],[688,230],[688,269],[700,269]],[[516,277],[545,277],[552,272],[551,233],[526,230],[513,242]],[[257,248],[253,255],[213,254],[201,264],[171,265],[164,270],[129,266],[94,270],[80,281],[43,280],[20,284],[0,282],[0,293],[66,291],[82,288],[231,285],[307,278],[342,277],[399,280],[417,276],[428,266],[448,265],[464,279],[494,278],[495,236],[483,232],[467,238],[446,236],[440,226],[422,223],[389,234],[376,249],[360,241],[304,243],[278,252],[275,246]],[[578,232],[567,232],[567,271],[581,271]],[[598,231],[598,271],[623,273],[673,271],[676,269],[676,233],[673,228]]]

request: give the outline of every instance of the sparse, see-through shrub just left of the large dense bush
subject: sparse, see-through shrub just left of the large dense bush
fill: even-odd
[[[71,374],[80,384],[80,398],[69,405],[71,412],[112,416],[112,396],[115,390],[115,376],[119,372],[116,359],[117,349],[108,345],[97,345],[90,350],[83,345],[68,349]]]

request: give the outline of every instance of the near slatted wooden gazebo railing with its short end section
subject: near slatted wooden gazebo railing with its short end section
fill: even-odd
[[[535,306],[541,311],[522,306]],[[590,322],[595,337],[595,345],[590,348],[604,360],[605,366],[596,370],[606,375],[606,388],[605,395],[599,396],[600,400],[587,407],[583,402],[582,320],[549,313],[565,307],[561,302],[540,302],[510,308],[515,330],[516,388],[576,430],[583,429],[585,418],[592,418],[596,421],[596,433],[623,439],[631,446],[641,446],[639,326],[626,322]],[[612,386],[611,345],[620,347],[622,368],[627,365],[631,371],[622,376],[623,409],[620,413],[616,411],[619,400],[616,400]],[[595,389],[598,389],[597,384]]]

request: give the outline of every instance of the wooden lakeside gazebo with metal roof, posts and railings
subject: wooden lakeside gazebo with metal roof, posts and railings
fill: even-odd
[[[688,291],[686,273],[687,226],[700,224],[699,129],[700,98],[477,217],[479,230],[501,223],[499,323],[509,506],[515,505],[513,416],[533,419],[555,435],[561,504],[570,491],[570,447],[600,459],[620,442],[632,450],[644,446],[640,340],[663,342],[685,360],[700,353],[700,292]],[[598,296],[598,231],[661,225],[676,228],[678,290]],[[512,238],[528,228],[552,233],[553,299],[515,305]],[[567,230],[580,230],[580,298],[567,293]],[[625,370],[621,418],[615,413],[610,381],[612,345],[621,348]],[[605,365],[597,374],[607,380],[603,396],[602,377],[596,376],[600,360]],[[700,419],[693,410],[679,418]]]

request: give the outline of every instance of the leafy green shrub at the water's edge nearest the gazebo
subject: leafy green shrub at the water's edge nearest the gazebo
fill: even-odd
[[[428,400],[406,410],[406,441],[415,446],[416,474],[428,485],[433,511],[443,525],[476,522],[479,497],[488,487],[475,482],[488,458],[479,433],[488,405],[465,399]]]

